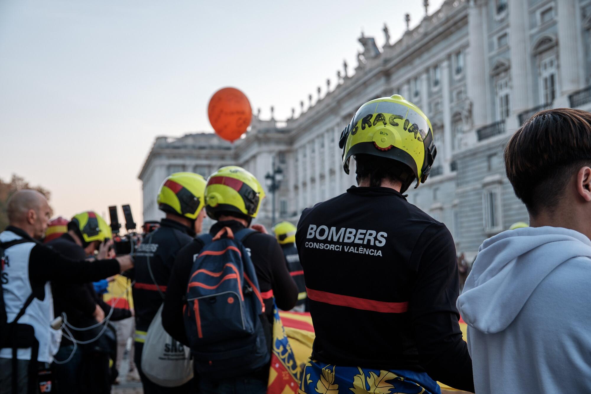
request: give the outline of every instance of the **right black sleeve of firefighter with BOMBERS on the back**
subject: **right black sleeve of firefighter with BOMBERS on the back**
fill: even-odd
[[[456,309],[459,278],[449,230],[443,224],[427,227],[413,258],[419,265],[409,312],[421,364],[432,379],[474,392],[472,359],[462,339]]]

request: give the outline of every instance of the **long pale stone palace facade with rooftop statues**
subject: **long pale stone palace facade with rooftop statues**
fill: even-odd
[[[212,133],[158,137],[139,174],[144,220],[163,216],[155,196],[171,172],[207,177],[236,164],[263,185],[265,174],[281,167],[276,221],[296,223],[305,207],[355,184],[354,168],[342,170],[338,139],[356,109],[400,93],[430,118],[437,146],[427,183],[411,188],[408,201],[447,224],[458,253],[472,258],[487,237],[527,222],[502,151],[537,110],[591,110],[591,0],[446,0],[414,28],[409,19],[394,43],[386,26],[381,47],[362,34],[355,70],[344,63],[332,86],[327,80],[307,105],[300,102],[298,116],[295,109],[284,121],[257,113],[235,144]],[[269,228],[267,196],[257,221]]]

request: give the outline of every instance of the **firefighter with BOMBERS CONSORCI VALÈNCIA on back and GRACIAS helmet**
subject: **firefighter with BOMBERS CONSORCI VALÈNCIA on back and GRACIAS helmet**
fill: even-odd
[[[472,391],[452,235],[403,194],[433,165],[431,123],[404,97],[382,97],[359,108],[339,146],[346,173],[355,159],[358,187],[304,210],[297,225],[316,331],[301,392],[439,393],[435,380]]]

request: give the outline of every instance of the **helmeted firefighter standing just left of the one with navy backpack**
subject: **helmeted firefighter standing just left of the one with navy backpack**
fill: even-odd
[[[145,394],[189,393],[192,379],[174,387],[164,387],[152,382],[142,370],[144,346],[158,346],[146,343],[148,328],[164,301],[168,278],[178,250],[190,243],[203,227],[205,180],[193,172],[174,172],[168,176],[158,190],[158,208],[166,217],[160,226],[142,239],[135,253],[135,268],[131,276],[135,279],[133,298],[135,306],[135,351],[134,361],[142,381]],[[171,344],[177,349],[177,344]],[[171,362],[178,355],[170,354]]]

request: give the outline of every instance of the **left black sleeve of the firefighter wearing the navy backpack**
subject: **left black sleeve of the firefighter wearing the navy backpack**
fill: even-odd
[[[199,253],[202,245],[199,241],[190,242],[177,253],[168,279],[164,307],[162,308],[162,325],[171,337],[189,346],[189,338],[184,329],[183,306],[187,294],[187,282],[193,266],[193,255]]]

